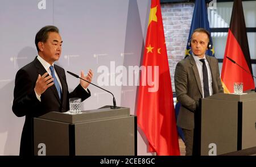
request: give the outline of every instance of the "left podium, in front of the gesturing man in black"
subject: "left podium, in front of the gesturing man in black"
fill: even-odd
[[[130,108],[48,112],[34,118],[34,155],[137,155],[137,117]]]

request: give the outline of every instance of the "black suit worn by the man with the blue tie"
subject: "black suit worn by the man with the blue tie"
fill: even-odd
[[[33,118],[50,111],[68,111],[69,98],[78,97],[84,101],[90,97],[89,89],[87,93],[80,84],[69,93],[64,69],[57,65],[54,67],[62,85],[61,99],[55,85],[48,87],[41,95],[41,102],[36,98],[34,88],[38,74],[42,76],[47,72],[37,58],[16,73],[13,112],[16,116],[26,116],[20,141],[20,155],[33,155],[34,153]]]

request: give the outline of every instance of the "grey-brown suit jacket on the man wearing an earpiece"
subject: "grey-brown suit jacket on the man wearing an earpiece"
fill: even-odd
[[[218,60],[212,56],[206,56],[206,59],[212,73],[213,94],[222,93]],[[199,99],[203,97],[199,72],[193,56],[188,56],[177,63],[174,80],[177,101],[181,103],[177,126],[192,130],[195,127],[194,112],[199,107]]]

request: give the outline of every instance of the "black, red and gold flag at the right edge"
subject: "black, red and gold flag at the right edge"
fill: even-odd
[[[237,64],[226,58],[230,57]],[[251,58],[246,34],[245,17],[241,0],[235,0],[230,20],[228,39],[226,41],[225,55],[221,71],[221,81],[224,93],[233,93],[234,82],[243,82],[243,91],[254,89],[254,80],[251,76]]]

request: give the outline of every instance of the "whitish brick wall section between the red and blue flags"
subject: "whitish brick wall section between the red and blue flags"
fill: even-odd
[[[161,4],[173,91],[175,67],[185,56],[194,6],[191,2]]]

